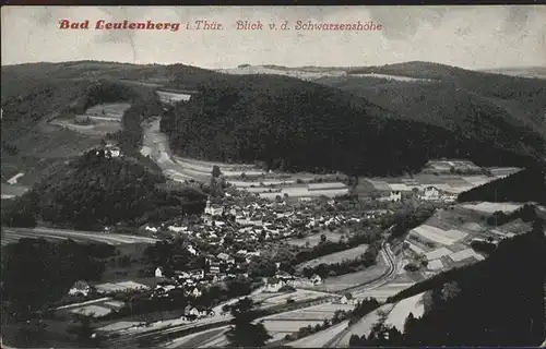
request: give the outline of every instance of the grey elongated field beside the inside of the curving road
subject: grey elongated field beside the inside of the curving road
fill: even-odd
[[[316,286],[314,289],[328,292],[341,291],[376,279],[383,273],[385,273],[387,269],[388,266],[383,258],[378,257],[376,265],[372,265],[360,272],[329,277],[324,280],[323,284]]]

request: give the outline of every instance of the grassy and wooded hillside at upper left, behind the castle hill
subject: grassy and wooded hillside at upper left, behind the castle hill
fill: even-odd
[[[82,134],[51,121],[73,118],[100,104],[133,105],[121,120],[123,132],[117,132],[114,139],[126,154],[135,153],[142,139],[141,119],[157,113],[155,91],[170,86],[179,76],[191,85],[210,74],[217,75],[182,64],[96,61],[2,67],[2,180],[24,173],[22,183],[32,185],[40,173],[55,170],[58,163],[99,145],[105,134]]]

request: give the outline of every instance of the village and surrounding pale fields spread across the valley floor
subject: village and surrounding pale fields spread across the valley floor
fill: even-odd
[[[60,306],[57,312],[64,315],[57,316],[94,317],[95,335],[127,344],[136,334],[173,328],[183,333],[191,324],[226,321],[229,304],[250,298],[263,311],[261,322],[272,336],[270,344],[301,341],[301,330],[309,326],[327,330],[363,302],[384,302],[442,270],[483,260],[483,253],[472,246],[476,241],[497,244],[531,228],[483,225],[485,215],[522,205],[455,204],[458,193],[515,173],[514,168],[438,160],[413,178],[354,182],[341,174],[300,176],[296,181],[287,174],[242,168],[251,173],[247,174],[218,164],[206,164],[211,166],[206,173],[202,161],[193,164],[201,166],[201,180],[210,178],[204,213],[143,226],[141,233],[158,242],[122,256],[130,260],[121,273],[127,277],[116,275],[94,285],[75,282],[68,297],[84,301]],[[195,176],[195,166],[192,170]],[[186,185],[198,183],[187,176]],[[170,178],[174,183],[179,179]],[[286,188],[295,193],[296,185],[311,193],[318,190],[320,195],[281,195]],[[254,188],[273,189],[276,195],[263,197]],[[335,194],[328,196],[329,189]],[[337,194],[340,190],[344,195]],[[355,193],[358,200],[348,198]],[[407,227],[412,230],[406,241],[391,244],[393,228],[407,219],[400,220],[401,213],[411,216],[419,210],[424,217]],[[105,227],[105,231],[115,229]],[[396,316],[418,315],[423,308],[418,304],[422,300],[414,300],[410,310]],[[351,332],[342,327],[335,328],[344,328],[347,341]],[[183,338],[171,346],[183,346]],[[225,336],[216,340],[214,345],[222,340],[227,345]],[[337,345],[344,346],[343,340]],[[204,344],[212,345],[203,339]]]

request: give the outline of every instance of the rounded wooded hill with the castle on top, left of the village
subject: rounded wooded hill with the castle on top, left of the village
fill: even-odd
[[[131,159],[93,149],[16,198],[9,212],[2,212],[2,224],[21,226],[41,219],[94,230],[116,224],[138,227],[203,210],[204,193],[192,188],[166,191],[158,185],[164,182],[162,174]]]

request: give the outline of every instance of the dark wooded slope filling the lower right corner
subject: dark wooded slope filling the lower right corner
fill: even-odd
[[[503,240],[485,261],[451,269],[390,298],[429,291],[422,318],[406,321],[405,334],[376,326],[356,346],[537,346],[544,340],[545,222]],[[410,316],[412,317],[412,316]],[[402,330],[402,328],[399,328]]]

